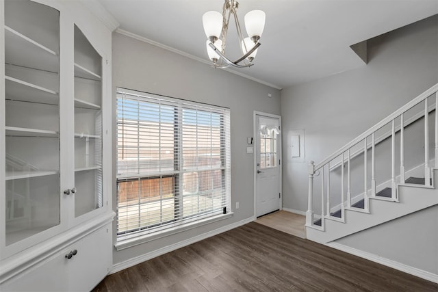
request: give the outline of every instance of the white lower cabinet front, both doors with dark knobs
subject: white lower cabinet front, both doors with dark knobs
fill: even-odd
[[[0,291],[90,291],[112,266],[112,224],[86,235],[61,252],[0,285]]]

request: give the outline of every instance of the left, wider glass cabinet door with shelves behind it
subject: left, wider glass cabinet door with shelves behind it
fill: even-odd
[[[5,0],[4,29],[3,206],[11,245],[60,224],[60,12]]]

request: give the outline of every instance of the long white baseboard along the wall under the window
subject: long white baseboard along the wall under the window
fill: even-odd
[[[237,227],[242,226],[244,224],[248,224],[249,222],[253,222],[255,219],[256,219],[255,216],[249,217],[249,218],[246,218],[245,220],[241,220],[239,222],[235,222],[233,224],[229,224],[227,226],[222,226],[222,227],[217,228],[215,230],[211,230],[207,233],[197,235],[196,237],[192,237],[190,239],[186,239],[184,241],[180,241],[180,242],[174,243],[172,245],[165,246],[164,248],[159,248],[158,250],[154,250],[153,252],[148,252],[147,254],[142,254],[142,255],[136,256],[134,258],[129,258],[129,260],[127,260],[127,261],[123,261],[122,263],[116,263],[115,265],[113,265],[112,269],[110,271],[110,274],[114,274],[114,273],[121,271],[123,269],[127,269],[128,267],[138,265],[139,263],[143,263],[144,261],[148,261],[151,258],[161,256],[162,254],[166,254],[168,252],[172,252],[172,251],[177,250],[179,248],[183,248],[184,246],[190,245],[190,244],[195,243],[197,241],[201,241],[203,239],[207,239],[207,238],[212,237],[214,235],[224,233],[225,231],[237,228]]]

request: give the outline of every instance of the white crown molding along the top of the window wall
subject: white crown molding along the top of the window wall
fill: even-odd
[[[198,61],[198,62],[201,62],[203,64],[207,64],[207,65],[211,66],[211,62],[209,62],[207,59],[203,59],[203,58],[200,58],[200,57],[196,57],[195,55],[191,55],[189,53],[185,53],[183,51],[179,51],[178,49],[166,46],[166,44],[155,42],[155,40],[151,40],[149,38],[144,38],[143,36],[139,36],[138,34],[133,34],[133,33],[129,32],[129,31],[125,31],[125,29],[116,29],[116,33],[123,34],[124,36],[129,36],[129,38],[134,38],[136,40],[140,40],[141,42],[146,42],[147,44],[152,44],[155,47],[159,47],[161,49],[165,49],[165,50],[170,51],[172,53],[176,53],[178,55],[182,55],[184,57],[188,57],[189,59],[194,59],[195,61]],[[274,85],[272,83],[269,83],[269,82],[266,82],[266,81],[263,81],[263,80],[260,80],[260,79],[254,78],[254,77],[250,77],[250,76],[248,76],[246,74],[243,74],[242,72],[237,72],[237,71],[231,70],[229,68],[220,68],[220,69],[224,70],[224,71],[227,71],[227,72],[230,72],[230,73],[233,73],[233,74],[238,75],[240,77],[244,77],[246,79],[255,81],[257,83],[269,86],[270,88],[274,88],[274,89],[278,89],[278,90],[282,90],[283,89],[283,88],[279,87],[278,85]]]

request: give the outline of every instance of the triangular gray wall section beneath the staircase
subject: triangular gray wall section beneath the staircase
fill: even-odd
[[[336,242],[438,275],[438,206]]]

